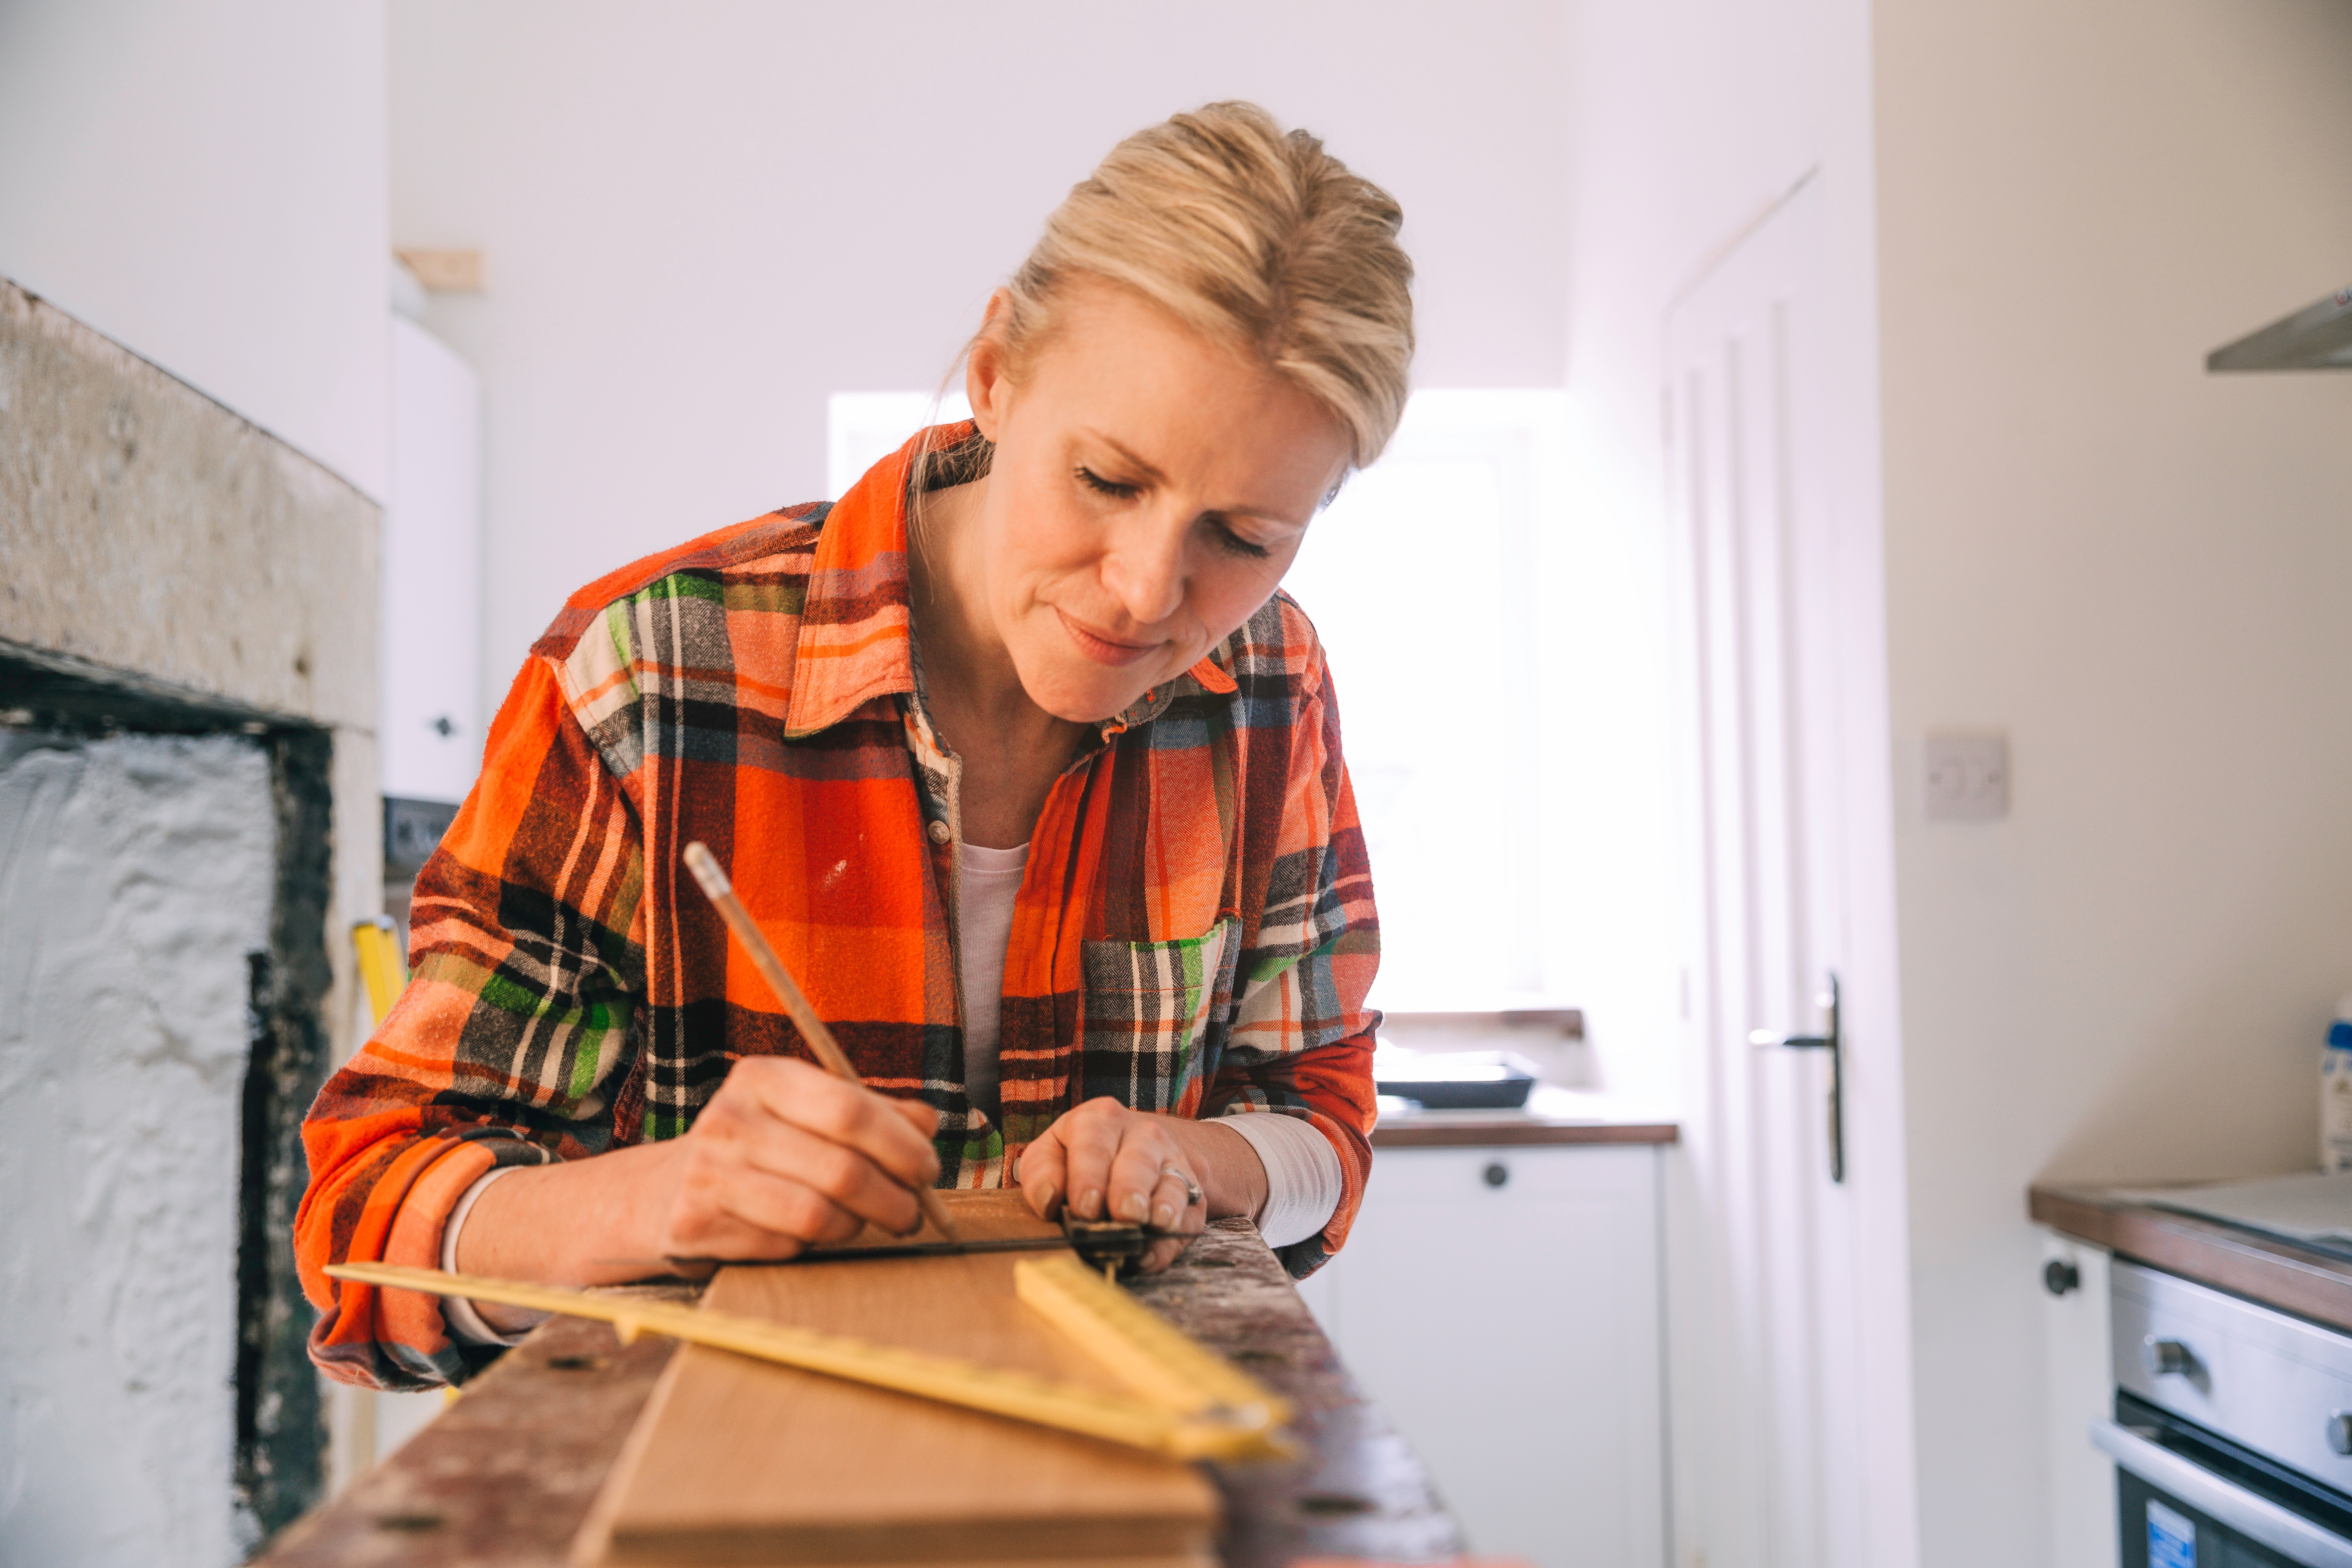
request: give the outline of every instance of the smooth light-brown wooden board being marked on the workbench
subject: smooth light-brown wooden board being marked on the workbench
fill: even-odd
[[[1042,1227],[1016,1194],[948,1197],[967,1239]],[[734,1267],[703,1305],[1117,1392],[1014,1298],[1018,1260]],[[574,1561],[1195,1568],[1216,1526],[1216,1490],[1176,1460],[687,1345]]]

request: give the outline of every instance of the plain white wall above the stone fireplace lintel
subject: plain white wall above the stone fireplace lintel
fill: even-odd
[[[381,501],[381,0],[0,5],[0,275]]]

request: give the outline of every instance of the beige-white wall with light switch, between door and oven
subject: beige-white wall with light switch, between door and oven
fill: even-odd
[[[2352,987],[2352,7],[1877,16],[1922,1530],[2042,1563],[2034,1178],[2310,1168]],[[1917,743],[2004,729],[2013,813]],[[2067,1566],[2072,1568],[2072,1566]]]

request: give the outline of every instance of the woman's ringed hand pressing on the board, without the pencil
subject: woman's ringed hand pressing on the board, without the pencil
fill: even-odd
[[[1129,1110],[1110,1095],[1065,1112],[1021,1154],[1028,1206],[1056,1218],[1129,1220],[1169,1232],[1143,1251],[1143,1272],[1176,1262],[1211,1218],[1256,1215],[1265,1166],[1247,1138],[1214,1121]]]

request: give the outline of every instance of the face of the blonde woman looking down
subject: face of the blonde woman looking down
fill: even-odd
[[[1030,701],[1080,724],[1265,604],[1348,463],[1322,404],[1110,284],[1063,289],[1018,386],[990,339],[967,383],[997,444],[967,585]]]

